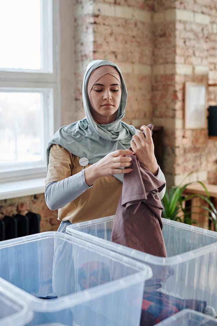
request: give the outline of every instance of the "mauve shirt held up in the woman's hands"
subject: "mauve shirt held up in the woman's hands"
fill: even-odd
[[[152,130],[153,125],[148,125]],[[132,169],[124,174],[111,241],[155,256],[167,257],[162,235],[163,206],[157,195],[165,187],[135,155]]]

